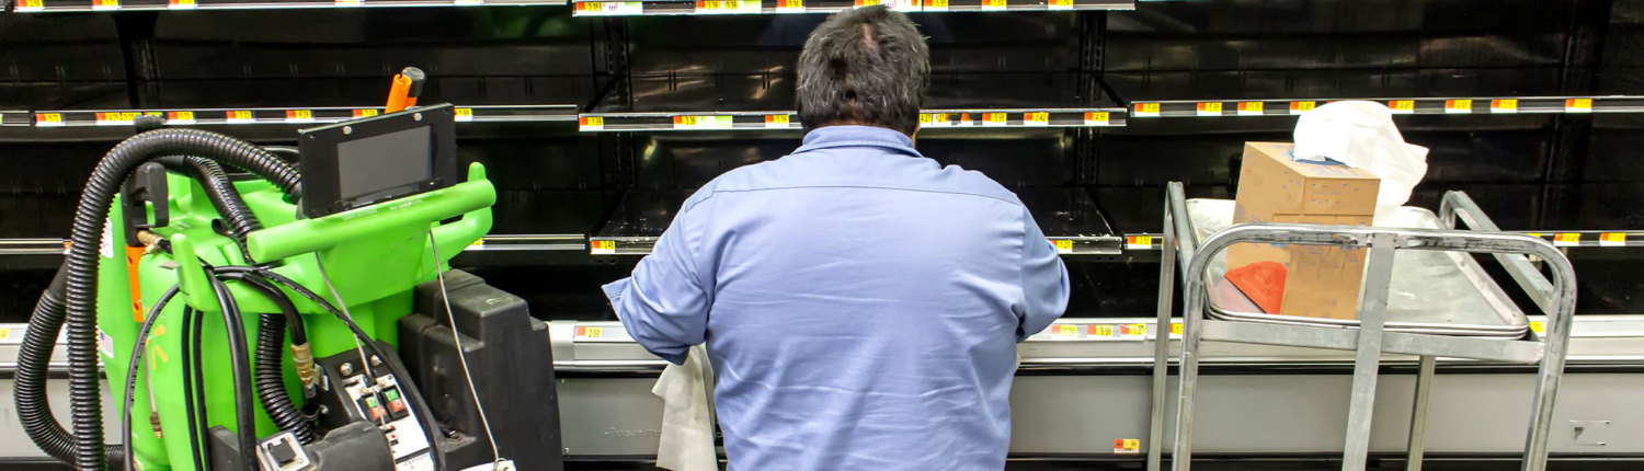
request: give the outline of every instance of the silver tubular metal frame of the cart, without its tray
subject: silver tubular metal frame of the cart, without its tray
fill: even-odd
[[[1465,222],[1473,228],[1473,231],[1455,230],[1457,220]],[[1531,402],[1534,412],[1526,433],[1522,469],[1544,471],[1547,466],[1547,435],[1552,428],[1554,402],[1557,399],[1559,382],[1563,376],[1570,327],[1575,318],[1575,271],[1570,268],[1570,261],[1563,256],[1563,253],[1550,243],[1527,235],[1501,233],[1499,228],[1496,228],[1496,225],[1481,210],[1478,210],[1478,205],[1473,203],[1466,194],[1445,194],[1440,207],[1440,222],[1447,226],[1447,230],[1269,223],[1236,225],[1212,235],[1203,241],[1203,245],[1198,245],[1197,235],[1189,223],[1182,184],[1171,182],[1166,189],[1164,208],[1166,241],[1159,274],[1159,323],[1156,328],[1159,333],[1154,336],[1157,345],[1154,350],[1152,427],[1149,430],[1148,443],[1148,469],[1159,469],[1164,448],[1162,425],[1166,412],[1166,368],[1169,363],[1171,292],[1175,284],[1175,263],[1184,264],[1182,274],[1185,284],[1182,295],[1185,297],[1185,309],[1182,312],[1184,332],[1180,384],[1177,386],[1175,448],[1172,451],[1171,464],[1175,471],[1189,471],[1192,464],[1194,445],[1194,399],[1198,387],[1198,343],[1203,340],[1205,332],[1205,271],[1210,266],[1210,259],[1235,243],[1294,243],[1346,248],[1356,246],[1369,249],[1366,259],[1365,289],[1361,290],[1363,294],[1358,307],[1360,327],[1353,330],[1300,327],[1289,328],[1291,332],[1287,332],[1287,335],[1295,336],[1297,343],[1294,345],[1356,351],[1353,363],[1351,407],[1348,410],[1348,433],[1342,469],[1365,469],[1366,455],[1369,451],[1369,417],[1374,407],[1376,369],[1384,346],[1407,351],[1411,350],[1411,341],[1415,340],[1422,345],[1443,346],[1422,346],[1425,353],[1419,354],[1420,363],[1415,379],[1415,402],[1411,414],[1409,469],[1420,469],[1424,453],[1422,438],[1425,435],[1427,422],[1427,396],[1432,389],[1434,366],[1437,363],[1437,354],[1432,351],[1443,351],[1445,356],[1455,358],[1498,361],[1503,358],[1516,358],[1524,361],[1526,358],[1522,358],[1522,354],[1511,353],[1512,350],[1524,351],[1521,348],[1522,345],[1512,343],[1539,343],[1537,354],[1534,359],[1529,359],[1531,363],[1540,363],[1540,369],[1539,381],[1535,382],[1535,396]],[[1544,338],[1537,338],[1535,333],[1531,333],[1529,340],[1465,340],[1440,335],[1386,333],[1384,338],[1383,327],[1386,323],[1388,286],[1392,279],[1392,261],[1397,249],[1494,254],[1503,266],[1508,268],[1508,272],[1512,274],[1514,281],[1517,281],[1519,286],[1534,299],[1535,305],[1540,307],[1549,317],[1547,335]],[[1526,254],[1545,261],[1550,268],[1552,279],[1549,281],[1535,271],[1535,268],[1532,268],[1526,259]],[[1251,336],[1241,340],[1240,333],[1248,333],[1249,330],[1233,328],[1238,323],[1240,322],[1217,322],[1218,328],[1213,340],[1284,345],[1282,340],[1274,340],[1274,336],[1264,336],[1259,340]],[[1314,336],[1314,333],[1318,335]],[[1325,338],[1332,336],[1333,340],[1340,340],[1342,335],[1351,335],[1355,338],[1350,343]],[[1466,353],[1470,351],[1476,351],[1476,354],[1468,356]]]

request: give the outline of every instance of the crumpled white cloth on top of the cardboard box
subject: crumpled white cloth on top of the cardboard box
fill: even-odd
[[[1335,102],[1295,123],[1297,161],[1338,161],[1381,177],[1373,225],[1392,223],[1394,212],[1427,176],[1427,148],[1404,143],[1392,110],[1378,102]]]

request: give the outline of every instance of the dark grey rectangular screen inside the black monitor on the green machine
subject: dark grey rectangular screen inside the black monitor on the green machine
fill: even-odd
[[[434,177],[429,126],[337,144],[337,184],[344,199],[370,202]]]

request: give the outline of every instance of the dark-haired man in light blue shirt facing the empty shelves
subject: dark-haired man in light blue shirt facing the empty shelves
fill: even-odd
[[[1004,468],[1016,343],[1067,269],[1014,194],[914,149],[929,75],[904,15],[829,18],[804,146],[704,185],[605,287],[651,353],[707,343],[732,469]]]

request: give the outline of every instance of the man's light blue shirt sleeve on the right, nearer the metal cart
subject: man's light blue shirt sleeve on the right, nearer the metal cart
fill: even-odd
[[[1044,238],[1039,223],[1023,208],[1023,304],[1016,309],[1021,323],[1016,341],[1051,327],[1067,312],[1067,266],[1055,253],[1055,245]]]

